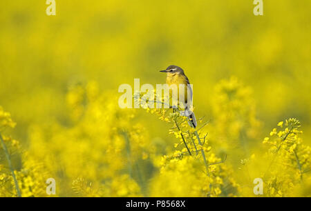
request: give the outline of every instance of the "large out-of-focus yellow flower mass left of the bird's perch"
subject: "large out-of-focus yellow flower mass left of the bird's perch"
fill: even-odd
[[[28,150],[49,163],[59,194],[141,196],[150,177],[141,165],[151,163],[154,147],[144,127],[132,123],[135,110],[120,109],[95,82],[70,87],[66,99],[67,123],[32,125]]]

